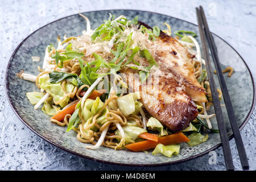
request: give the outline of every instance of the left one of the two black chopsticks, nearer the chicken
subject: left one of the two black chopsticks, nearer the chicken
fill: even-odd
[[[218,129],[220,131],[220,138],[221,138],[221,143],[222,143],[222,148],[224,153],[224,160],[226,164],[226,169],[230,171],[230,170],[234,170],[232,154],[230,151],[229,139],[228,139],[228,134],[226,132],[226,126],[225,126],[225,122],[224,122],[224,118],[221,110],[220,100],[218,98],[218,92],[217,92],[216,84],[213,78],[212,65],[210,63],[210,57],[208,52],[209,50],[207,47],[207,40],[205,37],[203,21],[198,8],[196,8],[196,16],[197,16],[197,23],[199,25],[200,39],[203,47],[205,67],[207,68],[207,75],[210,82],[210,90],[212,92],[214,110],[217,118]]]

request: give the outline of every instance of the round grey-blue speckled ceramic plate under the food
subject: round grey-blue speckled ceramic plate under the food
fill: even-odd
[[[198,28],[195,24],[186,22],[171,16],[151,13],[148,11],[138,10],[103,10],[83,13],[90,19],[92,28],[99,26],[104,19],[109,18],[109,13],[115,15],[125,15],[128,19],[139,16],[139,20],[147,23],[149,26],[158,26],[160,29],[166,29],[164,22],[171,25],[172,32],[176,30],[189,30],[199,35]],[[207,154],[221,146],[219,134],[209,133],[209,139],[195,147],[189,147],[186,143],[181,144],[180,154],[172,158],[162,155],[152,155],[151,152],[131,152],[127,150],[115,151],[110,148],[100,147],[97,150],[85,149],[89,145],[81,143],[76,138],[76,133],[66,133],[65,127],[60,127],[49,121],[49,116],[44,114],[40,109],[34,110],[26,97],[26,92],[38,91],[35,83],[22,80],[16,76],[20,70],[24,70],[33,75],[38,75],[38,65],[42,66],[44,51],[48,44],[57,45],[57,35],[61,38],[67,36],[79,36],[82,30],[85,30],[86,23],[80,15],[71,15],[65,18],[49,23],[39,28],[19,44],[11,56],[6,69],[6,94],[18,118],[32,131],[53,145],[79,155],[83,158],[97,160],[98,162],[122,164],[127,166],[157,166],[164,164],[173,164],[184,162],[185,160],[196,158]],[[234,111],[237,117],[240,130],[245,126],[250,118],[254,106],[255,89],[250,70],[245,61],[225,40],[213,34],[218,49],[221,67],[232,66],[234,73],[232,77],[225,76],[225,81],[229,89]],[[199,41],[199,37],[197,37]],[[32,62],[31,56],[39,56],[40,62]],[[220,88],[215,75],[217,87]],[[221,104],[224,104],[221,101]],[[233,138],[225,107],[223,108],[224,119],[228,129],[229,139]],[[210,111],[212,112],[212,111]],[[217,129],[216,120],[212,121],[213,128]]]

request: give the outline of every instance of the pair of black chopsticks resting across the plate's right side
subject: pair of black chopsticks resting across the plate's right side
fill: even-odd
[[[226,110],[228,111],[230,125],[232,127],[234,139],[235,139],[236,145],[237,145],[238,154],[240,156],[241,166],[242,166],[243,170],[247,170],[247,169],[249,169],[249,163],[247,160],[245,147],[243,146],[240,130],[237,125],[237,119],[236,119],[236,116],[234,115],[234,110],[232,107],[232,102],[230,100],[228,88],[226,86],[224,76],[222,75],[220,61],[219,61],[218,55],[217,55],[217,48],[214,43],[212,34],[210,34],[207,19],[205,18],[205,14],[204,14],[204,10],[203,10],[202,6],[200,6],[199,8],[196,7],[196,15],[197,15],[197,23],[199,25],[200,39],[201,39],[201,43],[202,43],[202,47],[203,47],[205,67],[206,67],[207,73],[208,73],[208,78],[209,78],[209,82],[210,82],[210,90],[212,92],[212,98],[213,98],[214,110],[216,113],[218,129],[220,131],[220,138],[221,138],[221,143],[222,143],[222,148],[223,148],[223,153],[224,153],[226,169],[229,171],[234,170],[234,165],[233,165],[232,154],[231,154],[230,146],[229,146],[228,134],[226,132],[224,117],[223,117],[221,106],[220,106],[220,100],[218,98],[218,92],[217,92],[216,84],[215,84],[214,78],[213,78],[213,69],[212,69],[212,65],[210,63],[210,57],[209,57],[209,52],[208,52],[209,49],[207,46],[207,42],[209,44],[210,52],[212,53],[212,59],[213,59],[214,66],[216,68],[218,80],[220,81],[222,95],[224,97]]]

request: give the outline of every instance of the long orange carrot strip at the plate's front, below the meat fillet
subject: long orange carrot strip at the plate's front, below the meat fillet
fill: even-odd
[[[138,152],[148,150],[150,148],[155,148],[159,143],[167,146],[169,144],[177,144],[182,142],[189,142],[189,139],[183,133],[175,133],[168,136],[159,137],[158,142],[152,140],[144,140],[142,142],[127,144],[125,147],[134,152]]]

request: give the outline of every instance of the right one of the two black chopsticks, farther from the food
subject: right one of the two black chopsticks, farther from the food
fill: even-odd
[[[226,86],[224,76],[222,74],[222,70],[221,70],[221,67],[220,67],[220,61],[218,59],[216,44],[213,40],[212,34],[210,34],[207,19],[205,18],[205,14],[204,14],[204,10],[203,10],[202,6],[200,6],[200,13],[201,13],[201,18],[203,20],[205,33],[206,33],[206,36],[207,36],[207,39],[208,39],[210,52],[212,53],[213,63],[214,63],[215,68],[216,68],[216,72],[217,72],[217,75],[218,75],[218,80],[220,81],[222,95],[224,97],[226,110],[228,111],[230,125],[232,127],[232,131],[233,131],[233,134],[234,134],[234,139],[236,141],[238,154],[240,156],[241,166],[242,166],[243,170],[248,170],[249,169],[249,163],[248,163],[248,160],[247,160],[245,147],[243,146],[243,141],[242,141],[242,138],[241,138],[240,130],[239,130],[238,125],[237,125],[237,119],[236,119],[236,116],[234,114],[234,110],[233,110],[233,107],[232,107],[232,102],[230,100],[228,88]]]

